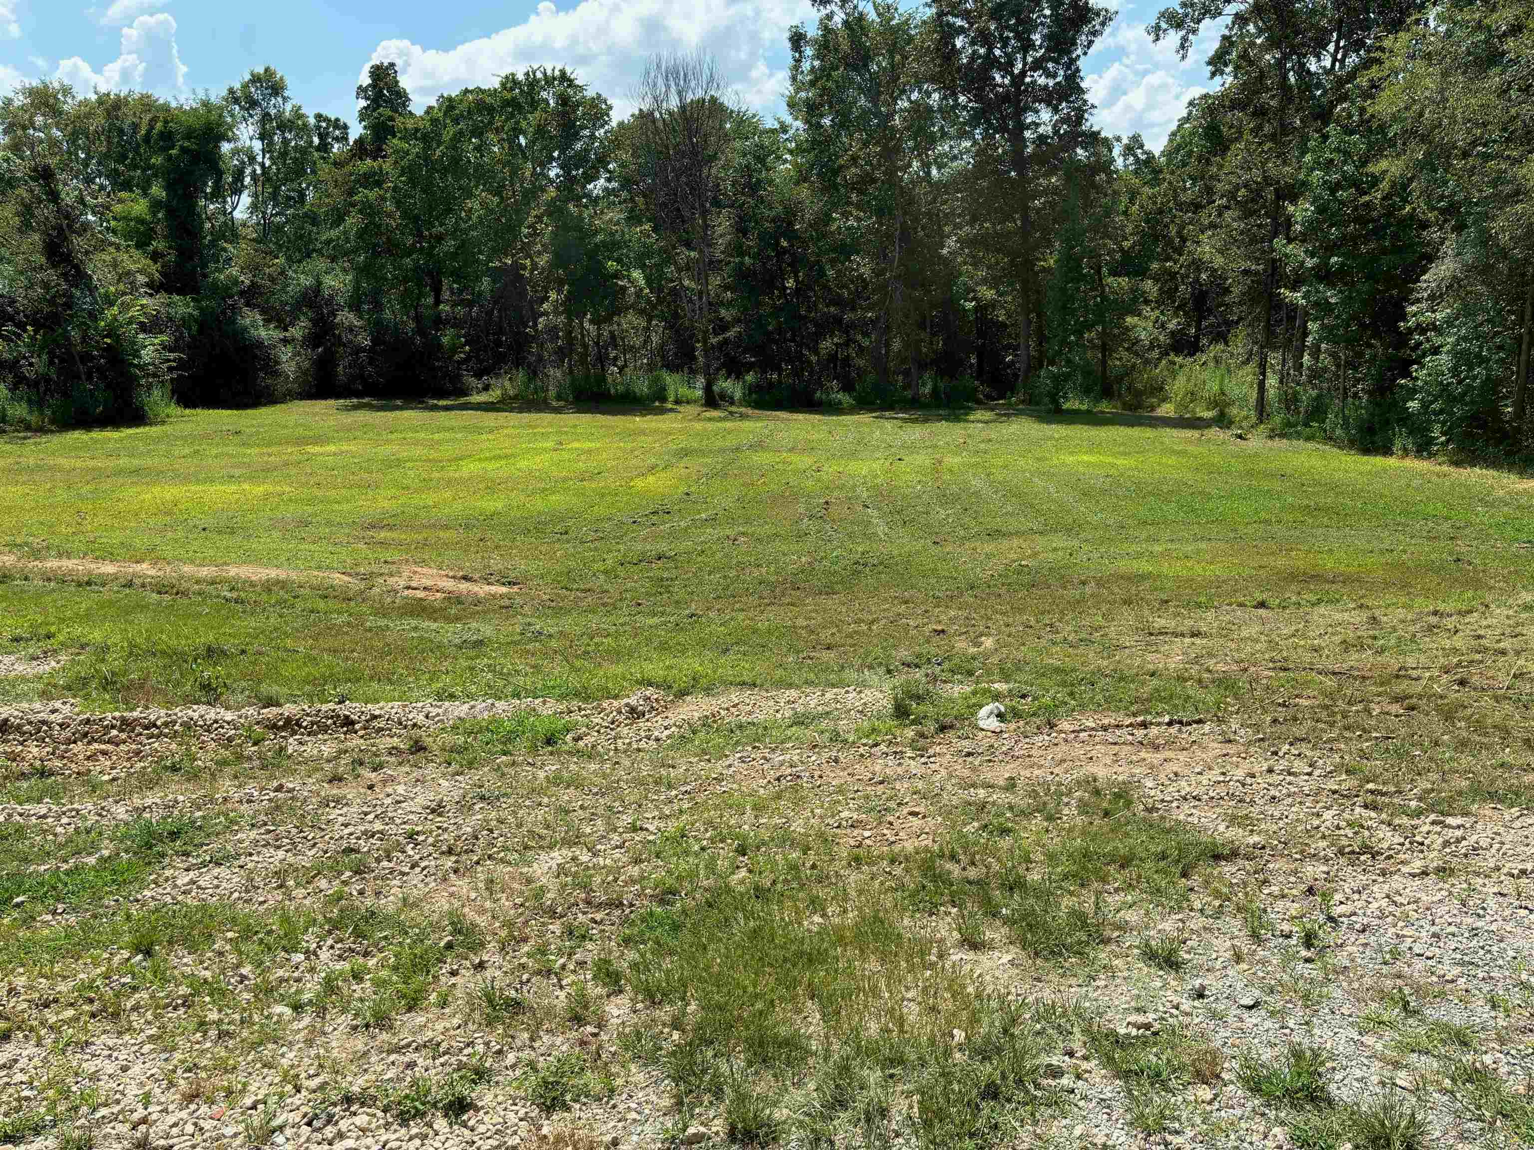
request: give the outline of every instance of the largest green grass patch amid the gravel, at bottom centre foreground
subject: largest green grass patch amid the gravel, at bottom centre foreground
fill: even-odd
[[[681,1121],[718,1107],[742,1144],[988,1144],[1048,1101],[1032,1004],[950,961],[882,866],[828,849],[752,853],[739,882],[733,851],[663,843],[675,876],[618,934],[641,1010],[621,1044],[661,1070]]]

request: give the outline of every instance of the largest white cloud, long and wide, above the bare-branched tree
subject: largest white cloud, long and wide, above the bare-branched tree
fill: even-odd
[[[523,23],[494,35],[449,49],[385,40],[368,63],[397,63],[422,104],[525,67],[565,66],[624,115],[649,55],[703,49],[744,101],[770,109],[787,87],[787,72],[772,61],[785,54],[788,26],[813,17],[810,0],[580,0],[565,11],[543,0]]]

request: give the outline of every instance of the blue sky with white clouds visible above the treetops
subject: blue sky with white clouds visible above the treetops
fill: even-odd
[[[1209,87],[1152,44],[1154,0],[1126,2],[1086,61],[1098,123],[1160,147],[1187,100]],[[281,71],[310,112],[354,121],[373,60],[394,60],[419,107],[531,64],[565,64],[621,115],[646,55],[710,51],[742,100],[782,109],[788,26],[808,0],[0,0],[0,90],[63,78],[80,90],[222,92],[252,67]]]

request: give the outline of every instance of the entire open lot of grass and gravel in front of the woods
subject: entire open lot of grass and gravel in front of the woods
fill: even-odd
[[[299,403],[0,552],[0,1144],[1534,1142],[1526,480]]]

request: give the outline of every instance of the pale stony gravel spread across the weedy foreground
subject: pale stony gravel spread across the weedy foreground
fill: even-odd
[[[902,742],[834,742],[810,747],[744,747],[716,762],[672,762],[660,753],[704,725],[785,719],[815,711],[839,716],[847,731],[881,713],[874,688],[831,692],[729,692],[670,699],[640,692],[606,704],[548,699],[515,702],[420,702],[275,707],[225,711],[97,715],[71,704],[0,710],[0,747],[12,767],[37,765],[107,779],[132,779],[166,747],[192,741],[204,750],[249,748],[249,731],[278,739],[296,767],[250,785],[161,780],[110,797],[67,803],[0,807],[0,823],[26,823],[43,834],[115,825],[141,816],[218,813],[233,817],[219,849],[178,859],[126,905],[230,900],[279,906],[331,894],[390,900],[413,895],[463,908],[485,923],[523,905],[531,883],[555,883],[571,868],[603,876],[560,922],[528,918],[523,935],[474,957],[449,960],[440,974],[456,1001],[469,1001],[488,977],[531,987],[525,958],[535,943],[558,937],[568,922],[589,928],[589,943],[560,960],[552,994],[584,978],[592,954],[646,899],[643,876],[627,868],[635,839],[653,839],[701,802],[804,796],[796,825],[824,830],[848,846],[904,849],[931,843],[951,803],[994,799],[997,787],[1072,787],[1088,780],[1138,788],[1146,808],[1235,843],[1220,866],[1223,892],[1195,885],[1175,912],[1123,902],[1121,929],[1092,960],[1058,964],[1005,946],[957,951],[976,977],[1019,998],[1075,1001],[1123,1033],[1155,1035],[1184,1027],[1226,1055],[1215,1083],[1180,1089],[1167,1130],[1147,1135],[1131,1121],[1123,1086],[1075,1044],[1051,1056],[1046,1075],[1062,1106],[1045,1110],[1037,1141],[1094,1147],[1209,1145],[1284,1147],[1289,1119],[1236,1081],[1243,1055],[1272,1056],[1292,1041],[1325,1047],[1344,1098],[1381,1090],[1410,1095],[1428,1116],[1430,1147],[1491,1145],[1488,1127],[1443,1089],[1443,1063],[1404,1050],[1381,1023],[1382,997],[1399,989],[1424,1017],[1468,1027],[1480,1060],[1525,1092],[1534,1075],[1534,816],[1486,807],[1460,817],[1422,808],[1410,790],[1361,787],[1341,770],[1335,747],[1270,744],[1238,725],[1097,716],[1039,733],[1005,727],[979,734],[957,730],[920,748]],[[449,770],[434,751],[411,754],[403,741],[459,719],[517,710],[560,713],[580,724],[577,757],[512,757],[505,777],[554,779],[589,768],[595,782],[563,785],[538,799],[483,771]],[[996,716],[1000,718],[1000,716]],[[356,777],[331,777],[305,764],[365,753],[376,764]],[[664,759],[666,780],[655,779]],[[603,771],[607,771],[603,776]],[[606,788],[601,777],[626,779]],[[643,784],[643,785],[641,785]],[[529,797],[531,794],[531,797]],[[558,819],[551,811],[558,808]],[[877,813],[876,813],[877,811]],[[563,826],[578,826],[578,834]],[[405,836],[405,831],[410,831]],[[337,854],[373,859],[364,874],[325,871]],[[491,894],[491,880],[503,882]],[[1267,926],[1252,937],[1238,900],[1255,899]],[[77,918],[48,908],[38,928]],[[1319,932],[1307,946],[1305,923]],[[1138,954],[1147,931],[1187,935],[1181,971],[1150,968]],[[327,971],[357,957],[325,943],[288,957],[281,984],[313,989]],[[546,1115],[534,1107],[518,1075],[561,1050],[589,1047],[617,1056],[617,1033],[634,1006],[609,998],[598,1026],[491,1030],[462,1007],[423,1009],[391,1030],[364,1032],[345,1015],[295,1017],[282,1004],[262,1020],[267,1040],[230,1044],[252,1018],[255,972],[232,968],[227,948],[212,955],[170,954],[178,975],[207,969],[233,998],[210,1007],[195,997],[160,1003],[135,998],[121,1014],[104,1012],[114,984],[126,984],[135,960],[126,952],[34,972],[0,972],[0,1006],[23,1020],[0,1041],[0,1106],[23,1106],[60,1087],[101,1096],[94,1116],[98,1145],[204,1147],[245,1142],[267,1098],[272,1145],[342,1150],[402,1147],[531,1147],[563,1144],[583,1132],[603,1145],[658,1147],[675,1136],[675,1112],[652,1070],[632,1067],[617,1092]],[[86,969],[89,968],[89,969]],[[94,972],[94,974],[92,974]],[[81,994],[83,975],[100,978]],[[201,1020],[189,1026],[189,1020]],[[35,1030],[32,1026],[35,1024]],[[69,1056],[60,1061],[64,1044]],[[173,1038],[172,1038],[173,1035]],[[402,1124],[367,1104],[336,1101],[328,1089],[337,1067],[348,1083],[402,1083],[446,1073],[479,1056],[492,1069],[462,1124],[443,1118]],[[199,1066],[238,1064],[238,1096],[199,1093]],[[64,1069],[61,1069],[64,1067]],[[225,1075],[227,1076],[227,1075]],[[146,1101],[147,1099],[147,1101]],[[723,1121],[700,1115],[681,1132],[687,1145],[719,1141]],[[141,1142],[133,1139],[143,1139]],[[568,1138],[566,1138],[568,1142]],[[46,1144],[38,1142],[40,1145]],[[581,1142],[574,1142],[580,1145]]]

